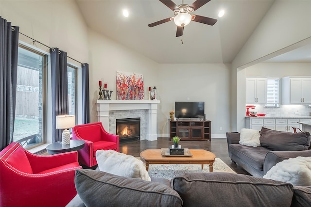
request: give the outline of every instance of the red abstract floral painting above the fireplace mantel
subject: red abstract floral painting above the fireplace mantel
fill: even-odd
[[[117,71],[117,100],[143,100],[142,74]]]

